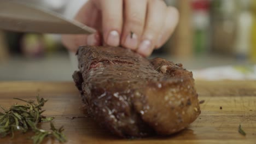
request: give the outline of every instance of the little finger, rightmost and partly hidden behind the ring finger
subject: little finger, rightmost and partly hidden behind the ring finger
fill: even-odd
[[[166,41],[173,33],[179,21],[179,12],[176,8],[168,7],[166,13],[167,14],[166,14],[164,26],[161,29],[161,33],[156,43],[156,49],[158,49],[159,47],[161,47],[166,43]]]

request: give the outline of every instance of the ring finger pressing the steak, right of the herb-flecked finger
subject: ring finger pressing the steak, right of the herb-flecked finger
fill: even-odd
[[[166,4],[161,0],[150,0],[147,8],[146,25],[137,52],[149,56],[154,50],[166,18]]]

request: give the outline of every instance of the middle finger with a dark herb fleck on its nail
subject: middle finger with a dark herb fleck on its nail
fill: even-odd
[[[121,45],[136,50],[146,20],[147,0],[125,0],[124,11]]]

